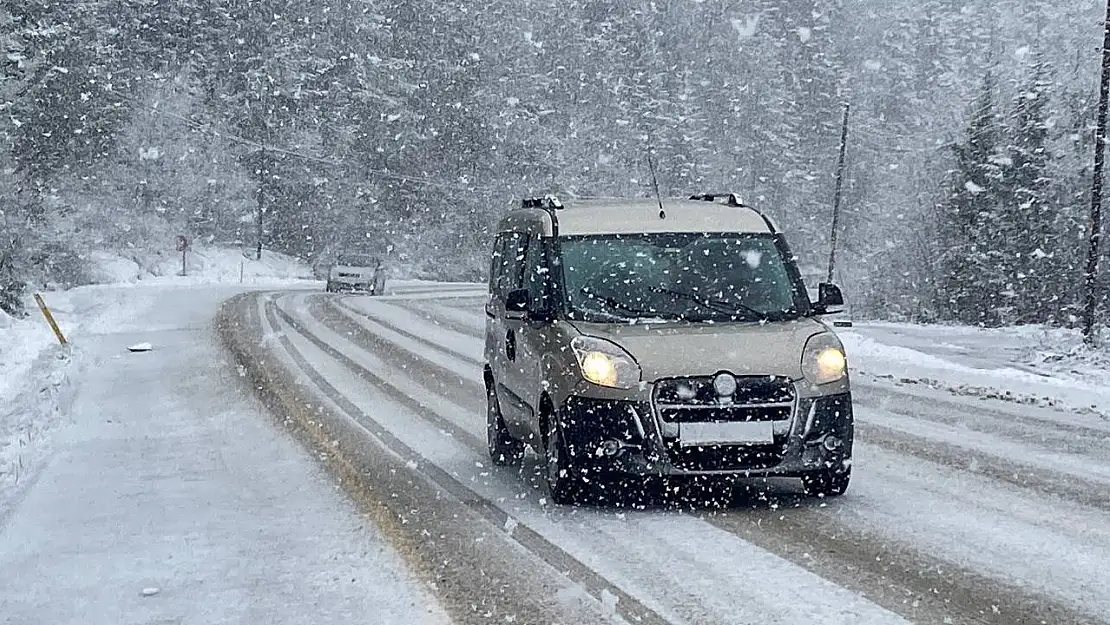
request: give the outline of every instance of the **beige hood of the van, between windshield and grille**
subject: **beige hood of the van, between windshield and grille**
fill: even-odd
[[[781,375],[798,380],[806,341],[828,329],[811,319],[776,323],[612,324],[576,322],[591,336],[624,347],[644,372],[646,382],[667,377],[713,375]]]

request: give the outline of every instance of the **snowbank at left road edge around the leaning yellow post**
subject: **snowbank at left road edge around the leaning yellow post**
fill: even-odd
[[[70,380],[83,363],[87,335],[155,329],[159,321],[149,313],[164,289],[203,289],[213,283],[240,288],[241,275],[242,289],[320,284],[311,280],[307,265],[284,254],[266,251],[261,261],[251,259],[234,249],[198,249],[188,254],[188,273],[180,276],[180,254],[145,259],[143,266],[119,255],[93,254],[92,275],[107,284],[43,293],[72,343],[65,349],[58,345],[30,296],[27,319],[0,312],[0,516],[6,502],[33,478],[50,452],[50,433],[65,421]]]

